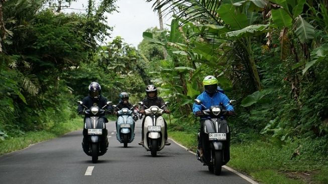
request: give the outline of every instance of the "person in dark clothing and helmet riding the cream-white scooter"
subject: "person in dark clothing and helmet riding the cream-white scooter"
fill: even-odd
[[[150,106],[157,106],[157,107],[162,107],[165,103],[161,97],[157,97],[157,88],[155,85],[148,85],[146,87],[146,94],[147,97],[142,100],[145,106],[148,108]],[[164,108],[164,113],[170,113],[170,111],[167,109],[166,106]],[[145,113],[145,107],[140,106],[140,113]],[[141,133],[141,141],[139,142],[139,145],[144,145],[144,123],[145,123],[146,116],[144,117],[142,121],[142,133]],[[171,143],[167,141],[167,123],[164,120],[165,124],[165,145],[170,145]]]

